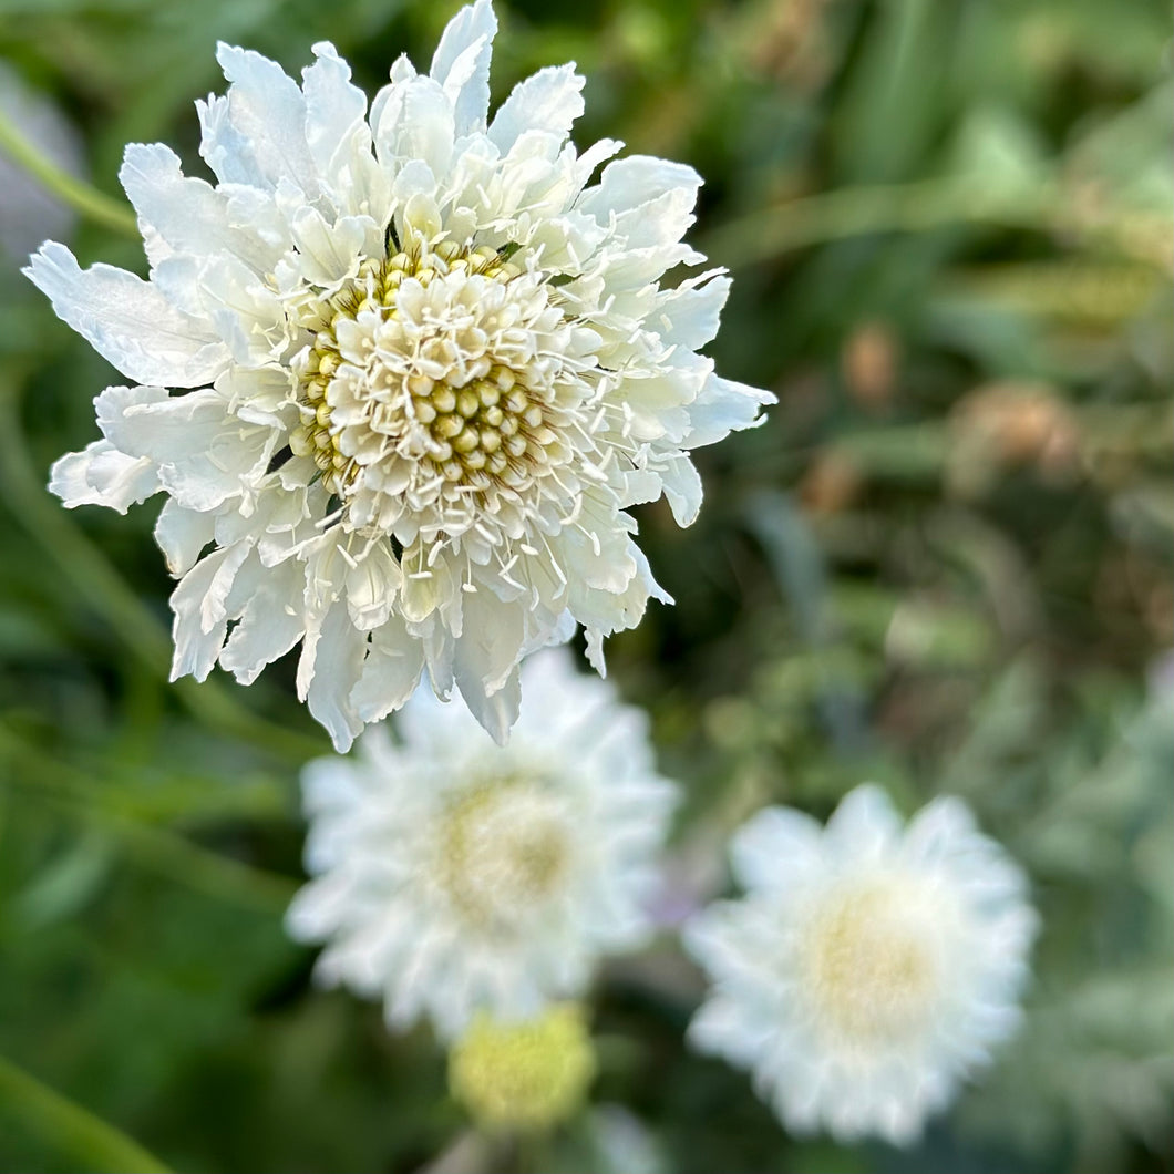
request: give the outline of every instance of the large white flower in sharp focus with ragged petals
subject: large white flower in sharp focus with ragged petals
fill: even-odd
[[[663,494],[691,522],[688,451],[774,398],[696,353],[721,270],[660,285],[704,259],[680,243],[699,176],[633,155],[592,183],[622,144],[568,141],[573,66],[487,123],[495,29],[488,0],[464,8],[370,112],[330,45],[301,87],[222,45],[228,94],[197,103],[218,182],[127,148],[150,279],[53,243],[26,270],[140,384],[97,397],[103,439],[50,487],[119,511],[167,493],[174,674],[249,683],[301,641],[339,749],[425,667],[498,741],[526,653],[578,622],[602,672],[603,636],[669,601],[626,511]]]

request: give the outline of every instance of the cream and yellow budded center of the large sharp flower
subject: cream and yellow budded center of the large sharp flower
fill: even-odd
[[[290,447],[344,501],[365,488],[419,508],[522,488],[566,458],[541,346],[561,322],[542,283],[487,245],[364,262],[302,317],[313,340],[294,364]],[[378,506],[362,520],[378,522]]]

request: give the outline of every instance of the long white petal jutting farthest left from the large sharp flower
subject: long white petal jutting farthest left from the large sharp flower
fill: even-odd
[[[48,295],[59,318],[137,383],[195,387],[228,365],[228,350],[209,322],[175,309],[134,274],[102,264],[80,269],[53,241],[23,272]]]

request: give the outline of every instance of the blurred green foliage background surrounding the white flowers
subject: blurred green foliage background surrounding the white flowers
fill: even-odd
[[[0,55],[116,200],[128,141],[200,170],[190,102],[223,88],[217,39],[290,72],[330,39],[373,92],[454,8],[0,0]],[[701,453],[691,529],[640,513],[677,605],[609,653],[688,789],[680,900],[722,890],[724,839],[763,803],[822,816],[864,777],[906,809],[960,794],[1033,878],[1027,1026],[918,1151],[796,1142],[684,1050],[700,978],[666,935],[601,977],[596,1107],[514,1153],[471,1134],[427,1034],[316,992],[283,937],[297,769],[328,749],[289,667],[169,686],[155,506],[67,514],[42,488],[114,377],[7,256],[0,1168],[162,1168],[134,1138],[208,1172],[1170,1169],[1168,6],[498,12],[497,99],[578,60],[580,144],[706,176],[693,238],[736,275],[713,355],[780,396]],[[0,221],[23,198],[9,184]],[[74,241],[142,269],[102,222]]]

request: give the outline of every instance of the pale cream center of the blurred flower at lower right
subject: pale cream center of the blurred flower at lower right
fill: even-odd
[[[884,888],[844,892],[824,906],[802,950],[818,1017],[857,1041],[905,1035],[924,1018],[936,967],[917,918]]]

